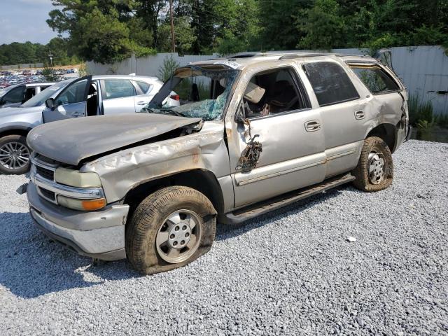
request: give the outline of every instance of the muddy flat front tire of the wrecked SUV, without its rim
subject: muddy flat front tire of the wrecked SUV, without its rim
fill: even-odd
[[[181,209],[197,214],[202,234],[197,250],[187,260],[167,262],[155,244],[159,229],[167,216]],[[127,259],[142,274],[155,274],[182,267],[207,253],[215,239],[216,210],[210,200],[199,191],[171,186],[160,189],[144,199],[127,223],[125,246]]]

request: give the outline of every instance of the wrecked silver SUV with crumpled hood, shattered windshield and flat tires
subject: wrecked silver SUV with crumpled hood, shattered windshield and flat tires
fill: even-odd
[[[181,106],[162,106],[173,90]],[[51,239],[151,274],[209,251],[216,221],[387,188],[408,135],[405,87],[376,59],[212,59],[177,69],[142,113],[36,127],[27,196]]]

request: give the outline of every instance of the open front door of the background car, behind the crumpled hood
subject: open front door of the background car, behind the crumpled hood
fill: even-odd
[[[87,114],[87,97],[90,94],[92,76],[74,80],[53,99],[53,106],[42,112],[43,123],[84,117]]]

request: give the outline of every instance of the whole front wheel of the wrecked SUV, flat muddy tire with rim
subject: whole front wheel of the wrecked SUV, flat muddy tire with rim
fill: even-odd
[[[127,223],[126,255],[143,274],[169,271],[207,253],[215,232],[216,210],[207,197],[188,187],[163,188]]]

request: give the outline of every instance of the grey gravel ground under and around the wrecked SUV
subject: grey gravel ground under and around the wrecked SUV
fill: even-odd
[[[25,176],[1,176],[0,335],[448,335],[447,158],[409,141],[391,188],[221,226],[207,255],[154,276],[52,243],[14,191]]]

